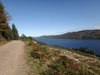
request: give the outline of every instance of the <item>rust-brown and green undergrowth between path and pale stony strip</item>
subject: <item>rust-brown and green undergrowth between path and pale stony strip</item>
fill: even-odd
[[[37,42],[36,40],[27,40],[26,52],[28,53],[28,64],[30,65],[29,75],[98,75],[99,67],[97,62],[79,63],[73,59],[62,55],[60,51],[50,50],[48,45]],[[54,47],[53,47],[54,48]],[[56,47],[55,47],[56,48]],[[80,58],[80,57],[77,57]],[[83,62],[83,61],[82,61]],[[93,66],[94,64],[94,66]]]

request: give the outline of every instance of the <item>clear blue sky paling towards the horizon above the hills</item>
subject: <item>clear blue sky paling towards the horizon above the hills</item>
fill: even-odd
[[[0,0],[19,35],[58,35],[100,29],[100,0]]]

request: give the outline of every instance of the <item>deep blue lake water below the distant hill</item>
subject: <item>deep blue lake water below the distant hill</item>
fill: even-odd
[[[48,45],[58,45],[67,48],[88,47],[100,54],[100,40],[95,39],[52,39],[52,38],[35,38]]]

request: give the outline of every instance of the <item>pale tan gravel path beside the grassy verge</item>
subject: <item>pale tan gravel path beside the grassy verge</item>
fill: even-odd
[[[0,47],[0,75],[27,75],[22,41],[12,41]]]

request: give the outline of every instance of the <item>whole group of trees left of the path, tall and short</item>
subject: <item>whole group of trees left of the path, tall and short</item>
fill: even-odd
[[[19,39],[18,30],[14,24],[10,28],[9,20],[11,20],[11,16],[5,10],[3,3],[0,2],[0,35],[6,40],[17,40]]]

